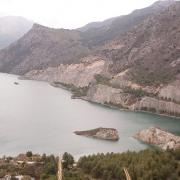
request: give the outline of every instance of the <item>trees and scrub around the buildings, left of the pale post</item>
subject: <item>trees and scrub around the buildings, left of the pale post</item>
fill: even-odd
[[[0,159],[0,178],[10,175],[16,179],[17,175],[24,175],[24,180],[35,179],[56,180],[57,158],[54,155],[42,156],[27,152],[17,157],[3,157]]]

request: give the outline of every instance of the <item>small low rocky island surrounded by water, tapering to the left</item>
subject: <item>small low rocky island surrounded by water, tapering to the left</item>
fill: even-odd
[[[114,128],[96,128],[86,131],[75,131],[76,135],[82,135],[87,137],[93,137],[98,139],[104,139],[104,140],[111,140],[111,141],[118,141],[119,140],[119,134],[118,131]]]

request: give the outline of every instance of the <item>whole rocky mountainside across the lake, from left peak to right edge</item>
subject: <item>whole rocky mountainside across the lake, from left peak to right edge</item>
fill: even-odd
[[[147,8],[141,21],[134,16],[138,20],[124,29],[111,26],[112,36],[98,28],[105,41],[88,34],[92,27],[81,32],[34,25],[0,51],[0,71],[64,85],[88,101],[180,116],[180,2],[152,7],[160,11],[144,18]]]

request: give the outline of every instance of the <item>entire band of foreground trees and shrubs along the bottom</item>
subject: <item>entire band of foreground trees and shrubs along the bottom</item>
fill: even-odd
[[[22,161],[19,161],[22,160]],[[28,164],[28,162],[34,162]],[[64,153],[63,180],[125,180],[126,168],[132,180],[179,180],[180,149],[176,151],[143,150],[140,152],[107,153],[81,157],[77,163],[69,153]],[[41,180],[56,180],[58,158],[27,152],[15,158],[0,159],[0,178],[25,175]]]

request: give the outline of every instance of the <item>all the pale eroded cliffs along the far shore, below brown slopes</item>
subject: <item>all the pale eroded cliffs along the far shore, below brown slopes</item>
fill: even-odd
[[[90,58],[90,62],[80,64],[60,65],[51,67],[46,70],[33,70],[24,77],[34,80],[43,80],[59,83],[66,87],[77,87],[82,89],[83,93],[76,93],[82,99],[101,103],[109,106],[116,106],[120,109],[129,109],[132,111],[149,111],[157,114],[171,116],[180,115],[179,102],[172,101],[176,91],[168,91],[165,86],[142,86],[126,77],[125,72],[118,75],[111,75],[109,72],[110,62],[100,57]],[[86,87],[86,89],[83,89]],[[171,87],[171,86],[170,86]],[[178,91],[178,86],[174,86]],[[166,89],[166,96],[170,95],[171,99],[162,97],[162,92]],[[85,92],[84,92],[85,90]],[[81,91],[81,90],[80,90]],[[73,92],[73,93],[74,93]],[[169,92],[169,93],[167,93]],[[76,96],[75,95],[75,96]]]

